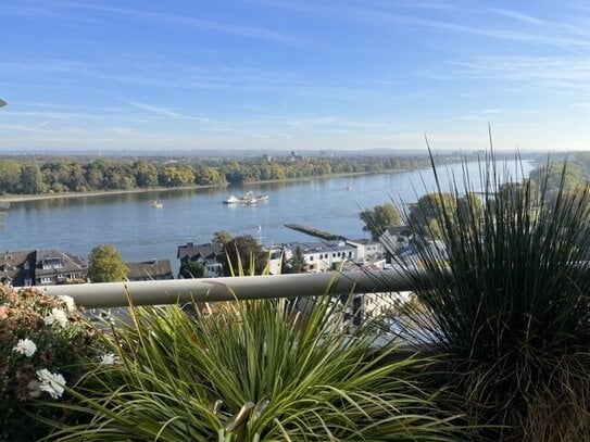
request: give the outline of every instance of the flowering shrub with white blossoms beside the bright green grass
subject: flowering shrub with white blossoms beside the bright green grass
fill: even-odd
[[[99,332],[70,296],[0,286],[0,441],[33,440],[47,430],[30,415],[59,420],[64,387],[103,355]]]

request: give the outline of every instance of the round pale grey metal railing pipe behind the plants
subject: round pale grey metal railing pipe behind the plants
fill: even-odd
[[[406,270],[246,276],[155,281],[47,286],[47,294],[66,294],[87,308],[217,302],[322,294],[397,292],[415,288]]]

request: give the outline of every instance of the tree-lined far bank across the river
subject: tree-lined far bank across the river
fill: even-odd
[[[154,160],[0,157],[0,194],[33,200],[287,181],[427,167],[422,155]]]

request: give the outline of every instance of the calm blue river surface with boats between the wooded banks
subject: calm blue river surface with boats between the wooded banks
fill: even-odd
[[[478,181],[477,163],[468,165]],[[462,177],[462,165],[440,167]],[[532,168],[523,164],[525,175]],[[520,175],[520,174],[518,174]],[[477,179],[476,179],[477,178]],[[514,178],[514,176],[513,176]],[[448,185],[448,178],[442,179]],[[445,186],[448,188],[448,186]],[[478,187],[476,185],[476,187]],[[255,205],[223,204],[229,194],[267,193]],[[394,201],[414,202],[435,190],[430,169],[215,189],[170,190],[13,202],[0,230],[2,250],[57,249],[87,257],[92,247],[114,244],[128,262],[170,258],[176,248],[206,242],[218,230],[260,236],[265,244],[313,241],[285,224],[310,225],[348,238],[363,238],[361,209]],[[151,206],[153,200],[162,209]]]

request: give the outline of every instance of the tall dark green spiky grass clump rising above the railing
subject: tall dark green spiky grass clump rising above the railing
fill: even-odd
[[[479,204],[432,200],[436,223],[411,220],[414,264],[425,269],[414,282],[427,287],[414,318],[448,361],[440,379],[477,425],[490,426],[482,435],[589,440],[589,190],[566,191],[563,179],[551,194],[547,178],[501,184],[499,168],[506,173],[490,154],[479,177],[464,167],[464,186],[451,178],[457,200],[479,178]]]

